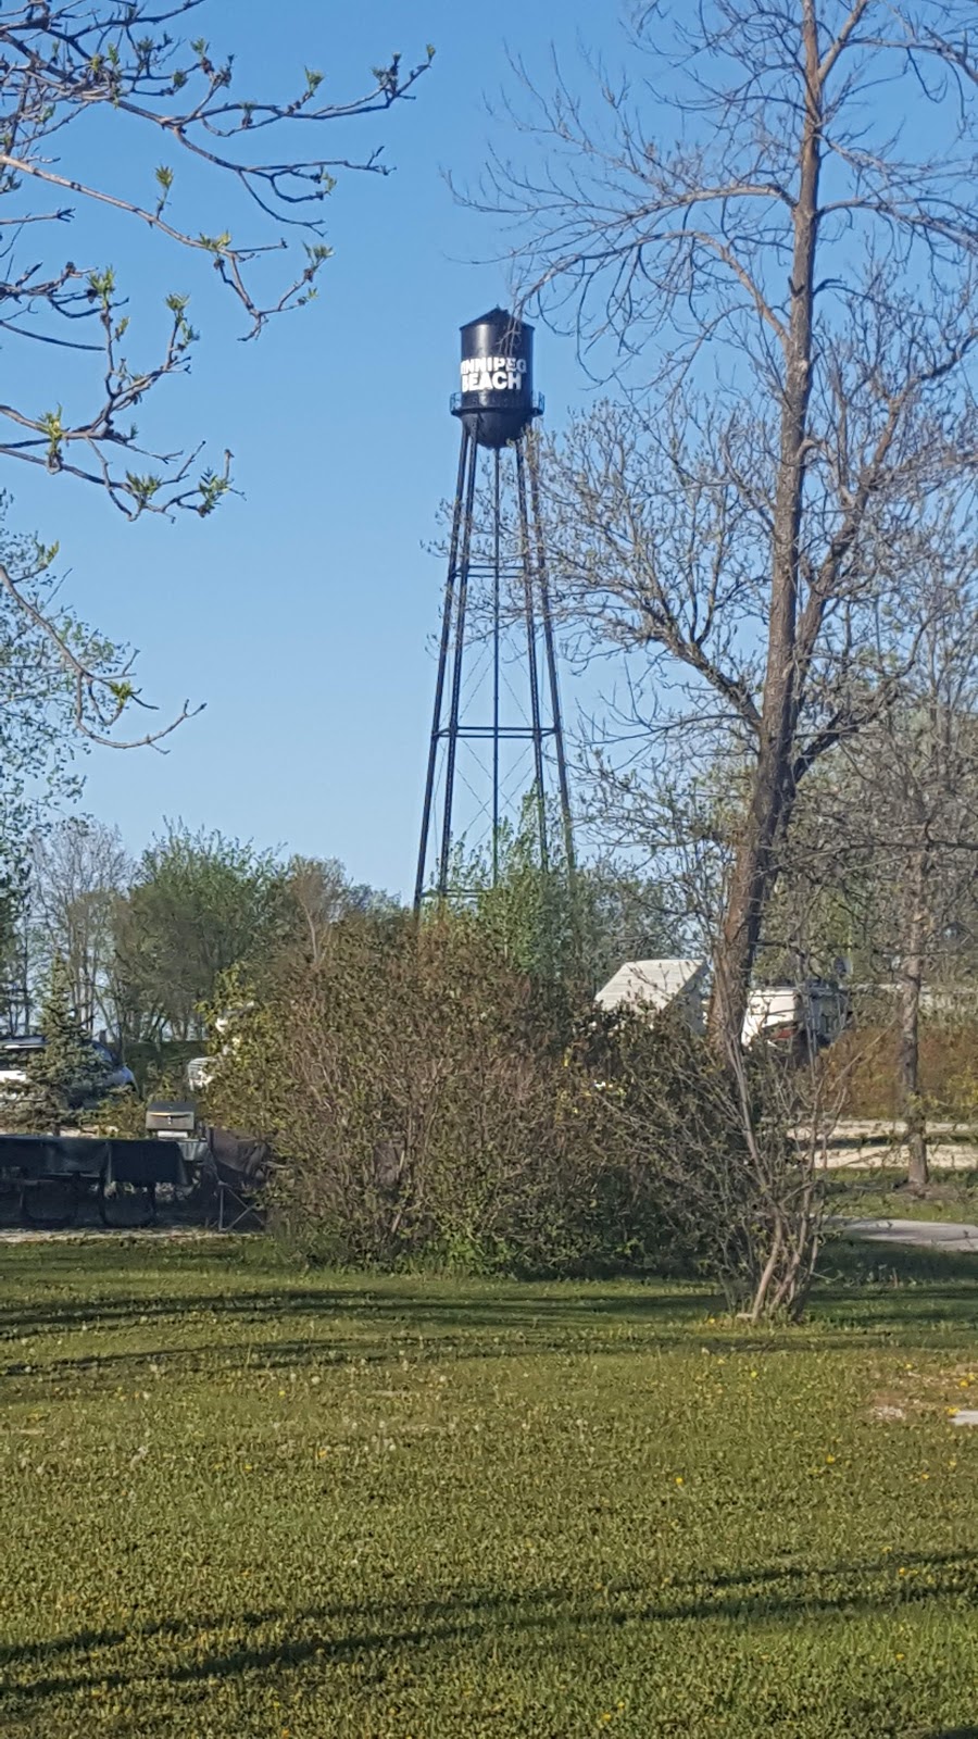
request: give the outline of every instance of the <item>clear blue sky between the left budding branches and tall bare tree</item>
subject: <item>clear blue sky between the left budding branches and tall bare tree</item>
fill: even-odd
[[[139,849],[160,819],[221,828],[261,845],[338,856],[358,880],[407,890],[418,842],[442,567],[425,544],[451,492],[458,424],[458,327],[505,299],[491,219],[452,200],[444,170],[479,174],[506,125],[486,99],[512,75],[506,50],[546,80],[550,43],[573,59],[578,33],[616,54],[614,0],[211,0],[200,28],[237,56],[235,89],[287,90],[303,66],[338,96],[400,49],[437,47],[418,101],[386,118],[334,127],[329,151],[374,143],[397,165],[345,176],[329,202],[318,303],[237,343],[228,306],[190,261],[99,221],[85,264],[125,266],[134,297],[195,292],[204,341],[188,381],[158,390],[148,433],[228,445],[242,501],[209,522],[136,525],[96,490],[7,464],[12,523],[61,541],[68,596],[94,624],[141,649],[139,675],[162,710],[205,713],[169,755],[94,751],[85,809]],[[68,136],[66,136],[68,143]],[[519,148],[519,146],[517,146]],[[148,183],[160,158],[122,162],[111,125],[89,141],[104,177]],[[143,183],[139,181],[143,177]],[[209,216],[223,228],[219,190]],[[207,226],[202,212],[200,226]],[[244,228],[244,226],[242,226]],[[136,301],[137,306],[137,301]],[[26,350],[26,346],[21,346]],[[24,358],[5,369],[24,381]],[[581,391],[573,348],[538,334],[536,384],[548,421]]]

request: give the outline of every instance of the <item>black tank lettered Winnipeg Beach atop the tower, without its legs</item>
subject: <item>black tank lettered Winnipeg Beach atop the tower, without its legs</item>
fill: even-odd
[[[461,391],[452,416],[461,417],[480,447],[519,440],[543,410],[533,391],[533,327],[505,308],[461,329]]]

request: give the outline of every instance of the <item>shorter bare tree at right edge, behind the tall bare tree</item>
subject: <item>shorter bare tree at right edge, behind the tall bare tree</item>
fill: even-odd
[[[806,781],[780,852],[760,958],[806,974],[854,963],[856,1024],[893,1016],[908,1183],[928,1184],[921,1016],[969,1003],[978,850],[978,548],[973,501],[947,503],[928,560],[893,586],[865,682],[879,704]],[[868,996],[860,991],[868,991]],[[856,1066],[860,1042],[849,1049]]]

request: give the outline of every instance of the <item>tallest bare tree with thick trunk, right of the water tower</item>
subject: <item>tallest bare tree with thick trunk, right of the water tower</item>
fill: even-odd
[[[520,70],[546,157],[496,160],[480,202],[515,224],[522,303],[626,388],[564,449],[569,614],[651,654],[660,710],[665,675],[747,763],[720,1049],[799,786],[886,694],[867,616],[976,457],[969,23],[964,0],[642,5],[633,87],[600,70],[592,104]]]

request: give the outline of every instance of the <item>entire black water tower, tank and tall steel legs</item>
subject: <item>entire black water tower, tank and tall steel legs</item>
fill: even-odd
[[[573,875],[574,849],[553,614],[546,577],[533,423],[533,327],[492,308],[461,327],[461,423],[449,567],[442,607],[435,713],[421,814],[414,909],[444,899],[452,873],[459,777],[491,828],[492,882],[499,824],[526,758],[541,868],[555,857]],[[503,503],[513,508],[505,516]],[[480,523],[473,525],[477,503]],[[459,772],[459,750],[475,751]],[[486,762],[487,756],[487,762]],[[472,756],[470,756],[472,760]],[[480,786],[480,790],[475,788]],[[526,786],[524,786],[526,790]],[[452,889],[452,892],[463,892]]]

